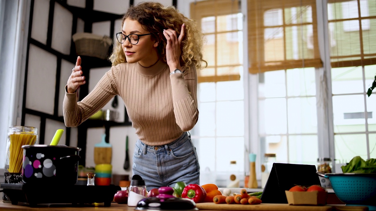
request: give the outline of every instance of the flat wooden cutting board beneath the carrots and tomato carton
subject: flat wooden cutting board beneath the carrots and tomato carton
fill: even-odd
[[[243,205],[243,204],[216,204],[212,202],[208,203],[196,203],[196,207],[199,209],[209,210],[250,210],[250,211],[367,211],[367,206],[297,206],[280,203],[261,203],[258,205]]]

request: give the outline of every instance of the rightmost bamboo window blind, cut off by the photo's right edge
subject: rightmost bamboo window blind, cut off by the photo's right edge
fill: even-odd
[[[328,0],[327,8],[332,68],[376,64],[376,1]]]

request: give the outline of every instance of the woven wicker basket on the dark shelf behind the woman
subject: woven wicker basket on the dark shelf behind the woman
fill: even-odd
[[[72,36],[76,44],[76,53],[80,56],[93,56],[106,59],[108,48],[112,44],[108,36],[94,35],[92,33],[75,33]]]

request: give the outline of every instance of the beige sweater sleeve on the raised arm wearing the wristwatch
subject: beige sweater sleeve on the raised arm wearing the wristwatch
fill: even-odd
[[[170,75],[176,124],[182,131],[191,130],[199,119],[197,109],[196,67]]]

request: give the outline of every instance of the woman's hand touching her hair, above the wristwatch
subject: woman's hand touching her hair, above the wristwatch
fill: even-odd
[[[183,41],[185,35],[185,24],[182,25],[179,37],[176,35],[176,31],[172,29],[163,30],[163,34],[167,39],[166,45],[166,59],[167,65],[170,67],[170,72],[176,68],[181,69],[180,66],[180,44]]]

